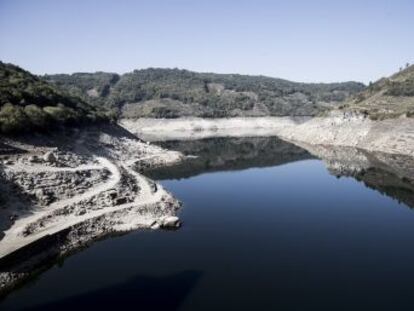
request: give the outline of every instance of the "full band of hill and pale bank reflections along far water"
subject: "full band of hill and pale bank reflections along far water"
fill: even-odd
[[[414,158],[408,156],[350,147],[296,146],[277,137],[208,138],[159,145],[197,157],[146,172],[154,179],[188,178],[204,172],[277,166],[318,157],[332,175],[353,177],[414,208]]]

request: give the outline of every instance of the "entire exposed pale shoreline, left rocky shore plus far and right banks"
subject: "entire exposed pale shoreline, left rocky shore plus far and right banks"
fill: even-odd
[[[70,133],[2,140],[4,150],[15,153],[0,157],[5,181],[0,190],[9,195],[17,186],[22,193],[0,215],[0,266],[7,266],[0,272],[0,296],[30,278],[27,271],[105,236],[158,229],[171,217],[172,226],[179,226],[181,203],[145,170],[184,156],[148,141],[277,136],[316,155],[332,146],[414,157],[414,120],[407,118],[141,119]],[[38,250],[35,256],[14,260],[32,249]]]

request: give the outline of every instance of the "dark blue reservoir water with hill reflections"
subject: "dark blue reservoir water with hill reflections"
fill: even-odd
[[[414,309],[404,159],[272,138],[164,145],[200,156],[151,172],[184,202],[183,227],[97,242],[1,310]]]

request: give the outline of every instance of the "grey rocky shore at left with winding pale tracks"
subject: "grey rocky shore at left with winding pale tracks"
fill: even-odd
[[[0,151],[0,294],[98,238],[180,226],[180,202],[142,172],[183,156],[119,126],[2,138]]]

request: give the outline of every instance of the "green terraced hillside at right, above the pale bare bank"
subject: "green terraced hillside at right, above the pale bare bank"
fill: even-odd
[[[373,120],[414,117],[414,66],[370,84],[340,109],[362,113]]]

